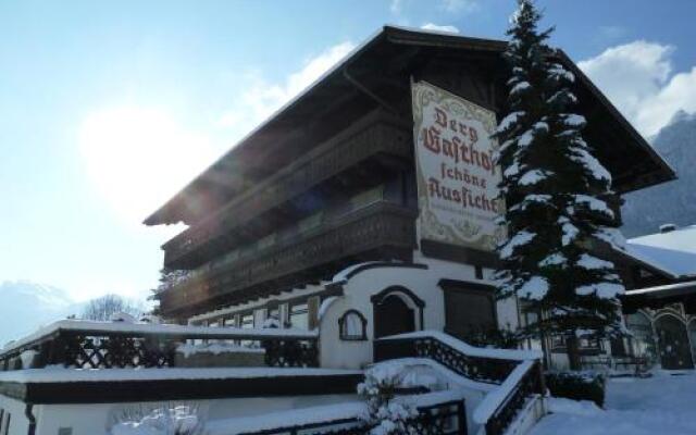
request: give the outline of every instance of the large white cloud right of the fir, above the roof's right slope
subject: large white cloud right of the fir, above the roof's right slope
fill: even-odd
[[[671,46],[643,40],[617,46],[579,66],[645,136],[679,110],[696,112],[696,67],[673,74]]]

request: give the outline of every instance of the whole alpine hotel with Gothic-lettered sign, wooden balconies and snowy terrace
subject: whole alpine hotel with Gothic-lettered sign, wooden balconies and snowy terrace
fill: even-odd
[[[63,320],[0,350],[0,435],[114,435],[124,415],[182,402],[208,435],[362,435],[356,387],[382,362],[400,364],[398,399],[433,433],[524,435],[546,412],[542,352],[465,343],[527,315],[490,282],[507,236],[490,139],[505,49],[384,27],[146,220],[188,225],[163,246],[164,324]],[[552,55],[575,76],[619,220],[622,194],[674,173]],[[592,244],[630,289],[652,286],[624,300],[635,339],[581,351],[635,363],[657,335],[663,368],[693,368],[696,268],[639,241]],[[567,364],[557,337],[544,345],[525,346]]]

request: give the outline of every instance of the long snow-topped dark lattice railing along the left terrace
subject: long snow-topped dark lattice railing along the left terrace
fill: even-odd
[[[0,370],[64,365],[108,369],[175,365],[176,348],[197,340],[225,340],[264,351],[269,366],[318,366],[318,334],[297,330],[129,324],[65,320],[0,351]]]

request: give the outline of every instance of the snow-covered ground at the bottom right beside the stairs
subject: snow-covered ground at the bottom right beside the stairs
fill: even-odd
[[[646,380],[612,378],[606,410],[592,402],[551,399],[552,414],[530,435],[693,435],[696,434],[696,374],[657,373]]]

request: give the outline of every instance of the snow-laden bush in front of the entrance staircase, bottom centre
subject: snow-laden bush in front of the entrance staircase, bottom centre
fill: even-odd
[[[358,385],[358,394],[368,400],[369,414],[363,420],[371,435],[420,434],[415,407],[394,400],[402,378],[401,366],[383,363],[370,369]]]

